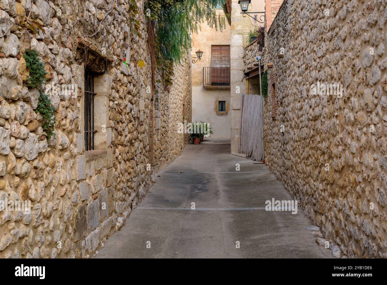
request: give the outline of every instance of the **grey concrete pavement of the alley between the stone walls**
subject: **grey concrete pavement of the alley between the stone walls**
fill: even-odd
[[[331,258],[301,209],[265,211],[292,199],[268,168],[229,152],[226,140],[188,144],[96,258]]]

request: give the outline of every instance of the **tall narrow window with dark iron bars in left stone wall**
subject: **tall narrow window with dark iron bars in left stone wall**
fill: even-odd
[[[94,76],[85,72],[85,149],[94,149]]]

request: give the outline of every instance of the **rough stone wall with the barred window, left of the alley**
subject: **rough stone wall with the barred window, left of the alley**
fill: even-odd
[[[127,1],[0,0],[0,200],[32,204],[30,214],[0,212],[0,258],[90,256],[146,194],[155,167],[182,152],[187,137],[173,126],[181,121],[183,101],[191,120],[190,63],[175,66],[170,92],[159,83],[156,95],[146,92],[151,57],[144,1],[136,2],[142,39],[128,27]],[[27,17],[44,31],[21,26]],[[129,45],[128,67],[123,43]],[[50,95],[57,119],[50,139],[34,112],[39,93],[25,84],[29,70],[22,55],[29,48],[39,52],[48,84],[78,86],[77,98]],[[88,152],[85,66],[104,70],[95,81],[97,150]]]

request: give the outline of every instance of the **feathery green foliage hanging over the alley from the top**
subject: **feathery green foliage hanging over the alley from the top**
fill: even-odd
[[[146,15],[157,21],[156,46],[167,60],[180,62],[182,55],[191,48],[190,33],[197,33],[200,24],[207,22],[212,28],[226,27],[225,17],[215,7],[224,0],[151,0],[145,5]],[[149,9],[149,10],[147,10]]]

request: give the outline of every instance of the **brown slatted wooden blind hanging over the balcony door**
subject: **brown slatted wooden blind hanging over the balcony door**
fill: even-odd
[[[211,85],[230,83],[230,46],[211,46]]]

